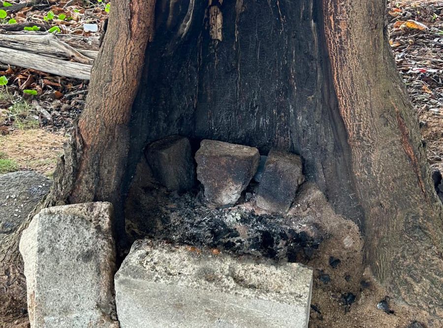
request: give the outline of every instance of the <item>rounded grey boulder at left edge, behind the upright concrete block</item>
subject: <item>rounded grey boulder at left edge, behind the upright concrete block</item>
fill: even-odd
[[[51,180],[34,171],[0,175],[0,240],[17,229],[51,185]]]

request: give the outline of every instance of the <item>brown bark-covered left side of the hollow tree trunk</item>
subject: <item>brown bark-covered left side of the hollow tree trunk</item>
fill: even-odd
[[[146,44],[153,36],[154,0],[112,1],[108,32],[93,67],[83,114],[54,174],[50,194],[34,210],[54,205],[107,200],[123,213],[120,182],[125,172],[129,143],[130,108],[143,68]],[[119,213],[119,212],[117,212]],[[18,250],[22,224],[0,245],[0,275],[10,276],[6,289],[10,304],[0,305],[0,315],[26,309],[23,261]],[[120,215],[123,218],[123,215]],[[124,222],[115,222],[124,231]],[[118,234],[121,243],[124,234]]]

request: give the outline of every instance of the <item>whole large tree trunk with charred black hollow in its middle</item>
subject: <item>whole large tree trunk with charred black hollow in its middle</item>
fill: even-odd
[[[384,0],[112,8],[86,109],[45,205],[111,201],[124,244],[123,202],[147,143],[181,134],[262,154],[285,149],[359,225],[375,277],[443,316],[442,205],[390,53]]]

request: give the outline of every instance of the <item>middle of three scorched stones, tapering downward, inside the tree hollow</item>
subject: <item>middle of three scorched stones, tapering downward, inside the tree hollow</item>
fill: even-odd
[[[257,171],[257,148],[222,141],[203,140],[195,154],[197,179],[205,198],[216,206],[232,205],[240,198]]]

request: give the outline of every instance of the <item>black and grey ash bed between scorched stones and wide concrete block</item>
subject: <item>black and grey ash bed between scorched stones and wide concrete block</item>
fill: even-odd
[[[155,198],[158,207],[153,211],[151,202],[150,214],[144,220],[157,222],[146,235],[176,244],[306,262],[321,242],[319,230],[312,223],[294,216],[257,214],[250,202],[211,208],[204,204],[201,191],[181,196],[158,191]]]

